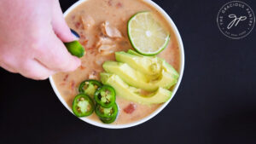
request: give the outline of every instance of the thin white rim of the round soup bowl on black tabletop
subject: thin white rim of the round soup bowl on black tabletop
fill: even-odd
[[[87,0],[80,0],[77,3],[74,3],[69,9],[67,9],[67,11],[64,13],[64,16],[67,16],[68,13],[70,13],[73,9],[75,9],[77,6],[79,6],[79,4],[84,3]],[[180,37],[179,32],[177,31],[177,27],[175,26],[174,22],[172,21],[172,19],[169,17],[168,14],[166,14],[166,12],[160,8],[160,6],[158,6],[156,3],[154,3],[151,0],[143,0],[145,3],[148,3],[149,5],[153,6],[155,9],[157,9],[160,14],[162,14],[166,20],[169,22],[169,24],[172,26],[172,30],[174,31],[176,37],[177,37],[177,43],[180,49],[180,57],[181,57],[181,63],[180,63],[180,72],[179,75],[180,77],[178,78],[177,84],[175,85],[174,89],[172,90],[172,98],[175,95],[177,88],[179,86],[179,84],[181,83],[181,80],[183,78],[183,70],[184,70],[184,50],[183,50],[183,41],[182,38]],[[58,96],[59,100],[61,101],[61,103],[69,110],[69,112],[72,112],[72,109],[70,107],[67,106],[67,102],[61,97],[60,92],[58,91],[58,89],[55,86],[55,83],[53,81],[52,77],[49,77],[49,82],[52,86],[52,88],[55,91],[55,94]],[[98,127],[102,127],[102,128],[108,128],[108,129],[124,129],[124,128],[129,128],[138,124],[143,124],[144,122],[148,121],[150,118],[153,118],[155,115],[157,115],[159,112],[161,112],[166,105],[168,105],[168,103],[172,100],[172,98],[169,101],[166,101],[166,103],[164,103],[162,106],[160,106],[157,110],[155,110],[154,112],[152,112],[150,115],[148,115],[148,117],[145,117],[141,120],[138,120],[136,122],[132,122],[130,124],[102,124],[99,122],[96,122],[94,120],[91,120],[89,118],[80,118],[82,119],[84,122],[92,124],[92,125],[96,125]]]

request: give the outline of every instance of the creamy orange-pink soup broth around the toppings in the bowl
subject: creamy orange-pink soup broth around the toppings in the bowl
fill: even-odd
[[[53,76],[57,89],[69,107],[72,107],[75,95],[79,94],[79,84],[90,78],[99,80],[99,73],[103,72],[102,63],[106,60],[115,60],[114,53],[102,55],[98,51],[97,42],[101,35],[100,26],[102,22],[108,20],[109,24],[116,27],[122,34],[122,38],[114,40],[115,46],[111,50],[113,52],[127,51],[128,49],[132,49],[127,36],[127,22],[133,14],[145,10],[152,11],[161,25],[166,27],[166,31],[170,32],[171,40],[166,49],[158,56],[164,58],[179,71],[180,53],[177,37],[172,31],[172,27],[156,9],[147,3],[143,3],[141,0],[88,0],[80,4],[76,9],[73,9],[66,17],[68,26],[79,32],[81,36],[79,42],[84,45],[86,50],[86,55],[81,58],[82,66],[74,72],[60,72]],[[81,19],[85,18],[88,20],[88,16],[90,16],[90,19],[93,19],[90,22],[93,22],[91,22],[90,28],[84,28],[85,26]],[[160,105],[141,105],[136,102],[126,101],[118,95],[116,102],[119,106],[119,116],[113,124],[129,124],[135,122],[147,117],[160,107]],[[129,112],[129,109],[131,109],[131,112]],[[133,112],[132,109],[134,109]],[[100,122],[95,113],[88,118]]]

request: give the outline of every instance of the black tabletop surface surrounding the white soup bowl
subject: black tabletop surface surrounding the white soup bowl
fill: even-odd
[[[66,10],[75,0],[61,0]],[[183,81],[170,104],[125,130],[86,124],[62,106],[49,81],[0,69],[0,144],[253,144],[256,142],[256,27],[240,40],[219,32],[227,0],[155,0],[183,38]],[[256,12],[256,1],[243,1]]]

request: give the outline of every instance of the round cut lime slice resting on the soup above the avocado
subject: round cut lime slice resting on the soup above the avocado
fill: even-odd
[[[170,39],[169,33],[148,11],[134,14],[127,27],[131,45],[142,55],[159,54]]]

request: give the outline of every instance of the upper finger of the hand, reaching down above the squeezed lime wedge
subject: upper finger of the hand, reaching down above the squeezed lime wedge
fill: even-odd
[[[53,14],[52,14],[52,26],[57,37],[61,39],[62,42],[71,42],[75,39],[71,33],[67,23],[63,17],[61,6],[59,1],[53,1]]]

